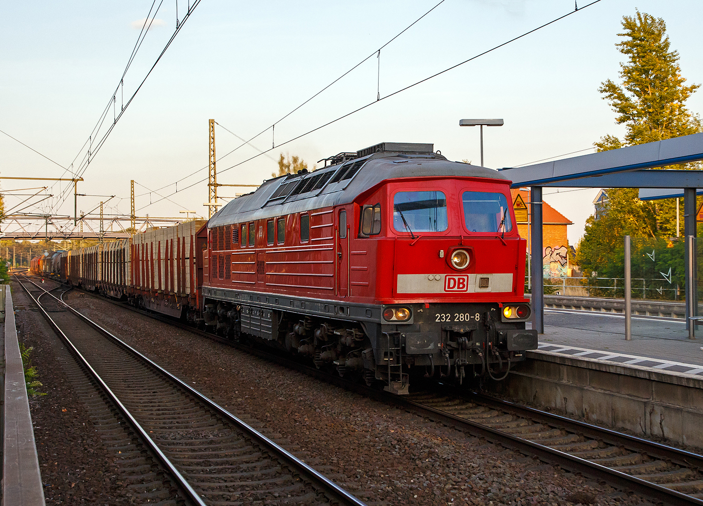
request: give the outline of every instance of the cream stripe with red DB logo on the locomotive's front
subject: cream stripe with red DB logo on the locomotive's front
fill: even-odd
[[[512,274],[398,274],[397,293],[512,291]]]

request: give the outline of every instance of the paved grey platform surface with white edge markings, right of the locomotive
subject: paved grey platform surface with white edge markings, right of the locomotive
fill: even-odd
[[[538,350],[703,377],[703,326],[688,339],[681,320],[633,317],[626,341],[623,315],[545,310],[544,318]]]

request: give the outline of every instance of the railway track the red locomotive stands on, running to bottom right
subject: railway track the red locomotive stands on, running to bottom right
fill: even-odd
[[[243,346],[123,303],[110,302],[189,329],[208,339],[228,343],[280,365],[307,372],[342,388],[396,405],[401,410],[453,426],[524,455],[538,457],[548,464],[591,476],[614,488],[633,491],[666,505],[703,505],[702,455],[444,385],[408,397],[391,396],[295,360]]]

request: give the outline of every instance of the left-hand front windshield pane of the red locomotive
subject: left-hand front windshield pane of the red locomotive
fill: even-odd
[[[446,197],[441,191],[399,191],[393,197],[393,227],[398,232],[444,232]]]

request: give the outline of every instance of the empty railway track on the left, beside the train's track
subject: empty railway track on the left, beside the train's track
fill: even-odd
[[[134,348],[24,278],[20,285],[127,419],[179,492],[177,502],[363,502]],[[64,292],[65,293],[65,292]]]

